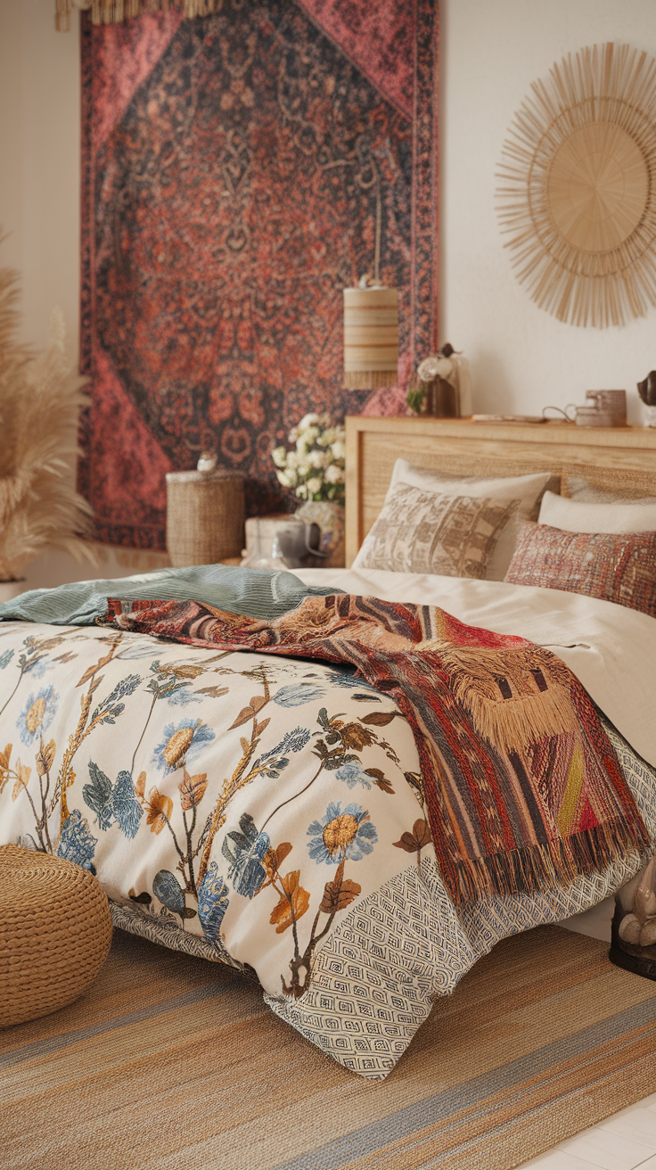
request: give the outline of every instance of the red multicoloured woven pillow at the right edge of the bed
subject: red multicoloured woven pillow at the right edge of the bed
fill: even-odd
[[[656,618],[656,532],[565,532],[522,521],[504,580],[585,593]]]

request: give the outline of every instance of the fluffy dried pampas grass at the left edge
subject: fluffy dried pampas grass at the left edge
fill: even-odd
[[[0,268],[0,581],[48,545],[95,562],[91,509],[74,486],[83,379],[71,376],[63,316],[43,355],[16,340],[18,274]]]

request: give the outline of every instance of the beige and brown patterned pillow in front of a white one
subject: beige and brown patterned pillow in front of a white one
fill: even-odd
[[[516,500],[443,496],[398,483],[353,567],[483,579]]]

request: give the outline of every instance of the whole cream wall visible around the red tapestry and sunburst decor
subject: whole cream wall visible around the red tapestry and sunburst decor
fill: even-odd
[[[0,0],[0,264],[23,278],[23,335],[42,345],[53,304],[78,336],[80,64],[77,14],[54,30],[54,0]],[[478,411],[538,413],[624,387],[656,367],[656,309],[621,329],[576,329],[518,284],[495,214],[495,168],[531,82],[585,44],[623,40],[656,56],[656,0],[441,0],[441,340],[471,360]],[[123,563],[120,563],[123,562]],[[102,572],[158,558],[106,553]],[[30,585],[88,576],[40,557]]]

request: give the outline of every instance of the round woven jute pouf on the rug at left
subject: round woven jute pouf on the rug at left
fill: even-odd
[[[47,1016],[94,982],[111,944],[97,878],[49,853],[0,848],[0,1027]]]

